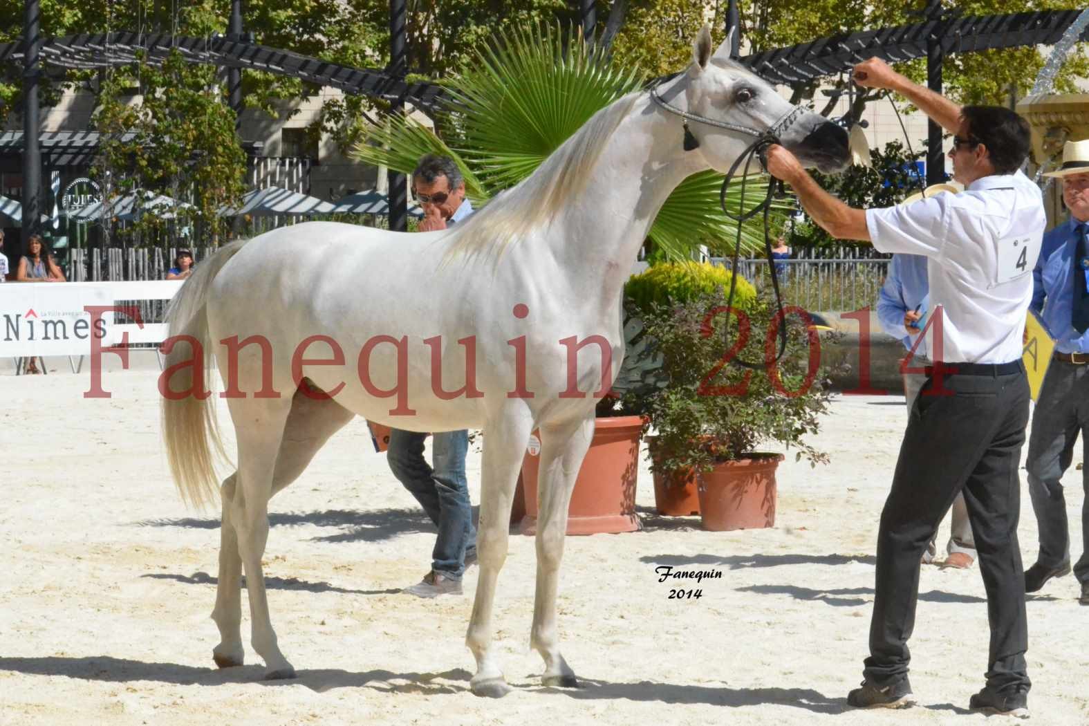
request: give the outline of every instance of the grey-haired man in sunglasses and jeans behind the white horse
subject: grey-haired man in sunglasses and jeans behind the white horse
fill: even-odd
[[[418,232],[457,224],[473,213],[465,181],[449,157],[427,155],[412,175],[413,194],[424,208]],[[393,476],[416,497],[439,533],[431,552],[431,570],[404,592],[419,598],[462,594],[462,575],[476,562],[476,528],[465,478],[468,431],[442,431],[431,436],[431,464],[424,458],[426,433],[390,430],[386,457]]]

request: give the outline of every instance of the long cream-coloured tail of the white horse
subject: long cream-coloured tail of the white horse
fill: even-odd
[[[246,242],[232,242],[195,267],[167,309],[170,337],[162,352],[171,374],[159,383],[162,438],[178,492],[189,505],[213,504],[219,499],[216,459],[227,460],[227,454],[216,422],[215,397],[201,393],[210,390],[206,386],[212,376],[206,305],[211,281]],[[192,362],[179,365],[185,361]]]

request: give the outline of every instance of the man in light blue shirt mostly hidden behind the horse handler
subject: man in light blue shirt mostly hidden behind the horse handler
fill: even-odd
[[[904,378],[904,398],[908,416],[915,406],[919,390],[927,382],[921,369],[930,365],[926,337],[919,336],[926,327],[930,305],[929,288],[927,258],[922,255],[897,254],[893,255],[889,262],[889,274],[885,275],[881,292],[878,293],[878,320],[881,322],[881,328],[893,337],[898,337],[908,352],[915,347],[915,355],[906,364],[907,367],[920,369],[917,373],[901,373]],[[956,495],[952,512],[950,541],[945,545],[949,556],[942,566],[965,569],[971,567],[976,561],[976,541],[971,536],[964,494]],[[938,553],[937,540],[938,533],[934,532],[933,539],[927,544],[927,551],[922,553],[923,564],[929,565],[934,561],[934,555]]]

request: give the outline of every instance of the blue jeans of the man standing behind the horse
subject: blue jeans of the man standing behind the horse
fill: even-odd
[[[393,476],[404,484],[439,528],[431,553],[431,569],[453,579],[465,573],[466,552],[476,552],[476,528],[465,479],[468,431],[445,431],[431,438],[431,466],[424,458],[426,433],[390,431],[387,459]]]

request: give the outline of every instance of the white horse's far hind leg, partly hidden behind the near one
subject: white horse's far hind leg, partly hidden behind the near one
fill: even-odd
[[[272,493],[293,482],[306,465],[329,440],[352,420],[354,414],[334,401],[315,401],[302,390],[292,399],[291,413],[284,426],[272,475]],[[216,665],[221,668],[242,665],[242,557],[238,555],[237,532],[231,521],[237,475],[223,481],[223,519],[220,527],[219,582],[216,588],[216,607],[211,617],[219,627],[220,642],[212,650]],[[242,506],[242,502],[238,502]]]

